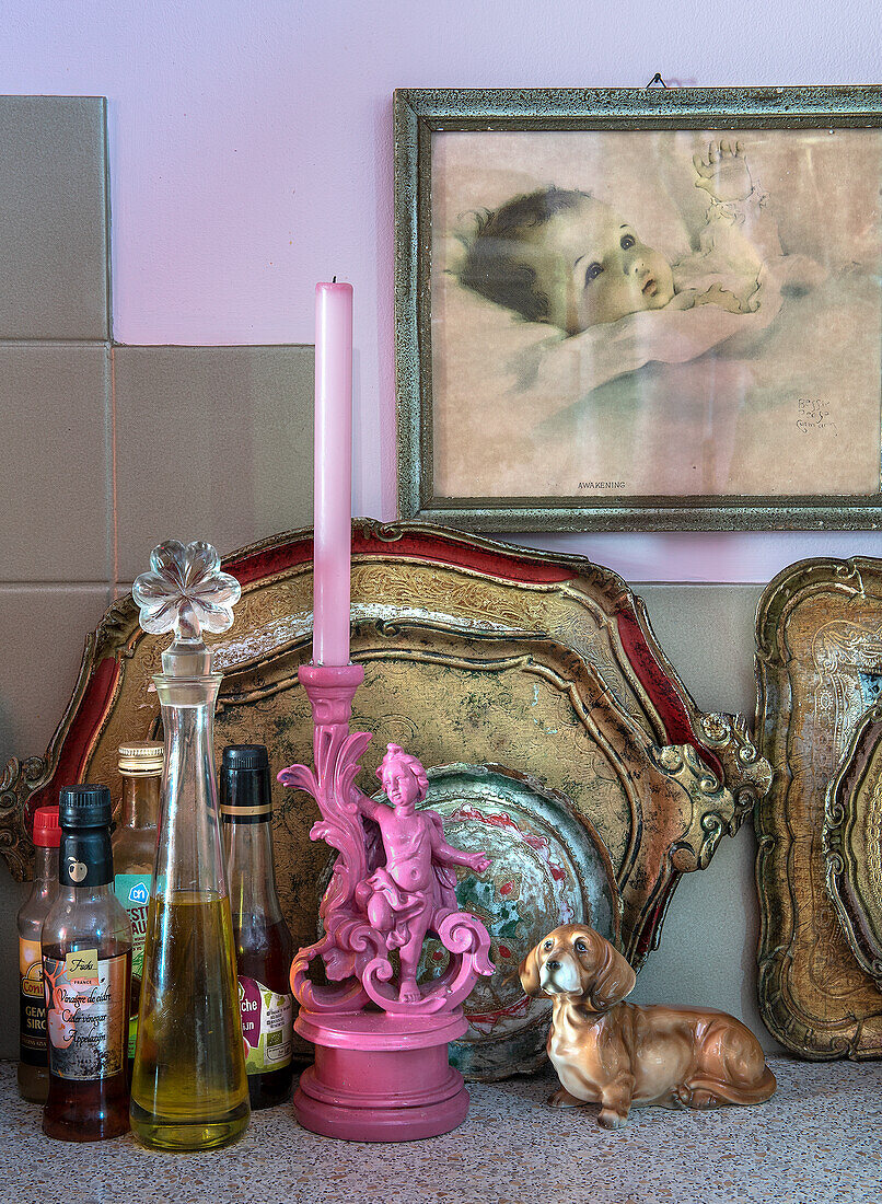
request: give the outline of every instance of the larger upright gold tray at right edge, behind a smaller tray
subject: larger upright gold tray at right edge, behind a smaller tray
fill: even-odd
[[[882,561],[804,560],[757,610],[759,1009],[803,1057],[882,1057],[882,993],[827,886],[824,801],[882,687]],[[828,837],[829,846],[829,837]]]

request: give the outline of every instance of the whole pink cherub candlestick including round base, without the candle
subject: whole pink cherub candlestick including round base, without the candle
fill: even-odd
[[[297,1032],[315,1045],[294,1099],[300,1123],[353,1141],[407,1141],[448,1133],[468,1111],[448,1041],[467,1029],[461,1004],[480,974],[492,974],[490,936],[456,904],[456,866],[487,869],[484,854],[444,839],[437,811],[416,810],[426,772],[390,744],[378,777],[389,803],[355,785],[368,732],[350,732],[360,665],[308,665],[300,680],[313,710],[315,768],[283,769],[278,780],[315,799],[309,833],[337,849],[321,901],[324,936],[291,964]],[[427,936],[449,954],[440,976],[419,984]],[[397,956],[396,956],[397,955]],[[328,985],[308,976],[321,957]],[[397,961],[397,966],[396,966]]]

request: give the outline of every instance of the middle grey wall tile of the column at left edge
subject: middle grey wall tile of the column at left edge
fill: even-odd
[[[0,582],[111,576],[109,353],[0,343]]]

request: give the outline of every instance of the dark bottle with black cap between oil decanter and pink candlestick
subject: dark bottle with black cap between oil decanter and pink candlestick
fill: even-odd
[[[262,744],[230,744],[220,771],[220,815],[236,944],[242,1039],[251,1108],[291,1090],[294,942],[276,893],[270,760]]]

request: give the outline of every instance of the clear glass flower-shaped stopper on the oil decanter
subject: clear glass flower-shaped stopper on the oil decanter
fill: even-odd
[[[187,547],[177,539],[159,544],[150,553],[150,572],[137,578],[131,592],[144,631],[154,636],[174,632],[174,642],[162,653],[164,672],[176,677],[211,673],[202,632],[227,631],[242,595],[236,578],[220,572],[214,548],[201,541]]]

